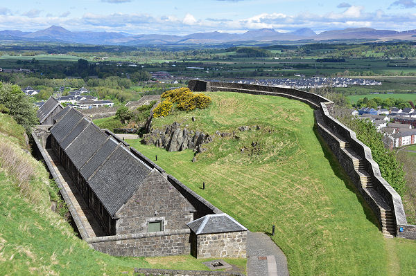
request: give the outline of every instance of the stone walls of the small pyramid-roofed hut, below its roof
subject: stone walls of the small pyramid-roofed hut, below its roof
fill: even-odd
[[[216,234],[191,233],[191,253],[199,258],[245,258],[247,231]]]

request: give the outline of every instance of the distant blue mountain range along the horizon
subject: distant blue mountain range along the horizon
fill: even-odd
[[[184,44],[243,44],[249,42],[283,42],[283,41],[328,41],[339,39],[371,39],[387,41],[393,39],[416,40],[416,30],[397,32],[395,30],[376,30],[373,28],[347,28],[344,30],[328,30],[316,34],[310,28],[301,28],[291,33],[279,33],[270,28],[249,30],[243,34],[235,33],[193,33],[191,35],[130,35],[115,32],[71,32],[60,26],[51,26],[36,32],[20,30],[2,30],[0,39],[75,42],[80,44],[98,45],[184,45]]]

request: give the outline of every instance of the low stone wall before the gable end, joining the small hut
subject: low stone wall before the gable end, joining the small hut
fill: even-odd
[[[95,250],[114,256],[154,257],[187,255],[189,229],[163,232],[120,234],[85,239]]]

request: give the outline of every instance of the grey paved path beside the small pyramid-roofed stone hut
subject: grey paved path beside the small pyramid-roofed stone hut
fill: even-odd
[[[261,232],[247,232],[248,276],[288,276],[284,252]]]

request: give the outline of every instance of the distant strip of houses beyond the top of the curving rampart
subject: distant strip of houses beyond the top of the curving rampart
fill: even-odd
[[[381,85],[376,80],[351,77],[308,77],[302,79],[240,80],[240,84],[256,84],[283,88],[311,89],[322,87],[348,87],[352,85]]]

